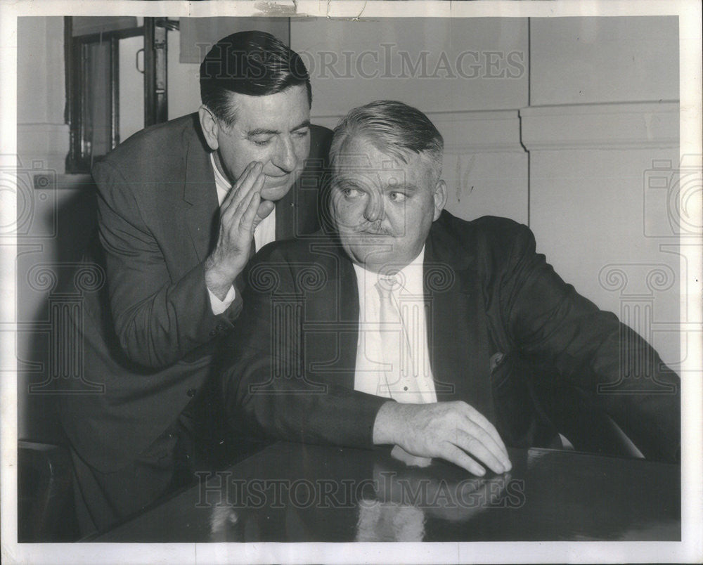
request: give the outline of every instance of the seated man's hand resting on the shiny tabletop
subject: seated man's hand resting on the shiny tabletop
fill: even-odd
[[[510,471],[508,450],[496,428],[465,402],[381,406],[373,443],[395,444],[418,457],[441,457],[482,476],[481,461],[496,473]]]

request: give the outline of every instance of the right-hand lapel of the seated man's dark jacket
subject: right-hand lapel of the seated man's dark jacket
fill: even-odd
[[[427,341],[437,400],[463,400],[495,421],[486,313],[471,249],[459,249],[441,220],[425,247]]]

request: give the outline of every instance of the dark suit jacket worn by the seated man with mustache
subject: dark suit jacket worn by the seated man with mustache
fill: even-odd
[[[375,415],[387,400],[353,391],[359,300],[347,255],[325,236],[276,242],[250,264],[248,278],[237,321],[246,330],[236,332],[247,337],[228,338],[217,365],[231,425],[243,419],[283,439],[371,446]],[[676,459],[678,377],[612,313],[564,283],[535,252],[529,228],[443,212],[427,238],[424,285],[438,401],[470,403],[508,444],[548,442],[532,394],[544,383],[491,379],[491,356],[519,351],[548,361],[645,456]],[[621,355],[650,362],[621,379]],[[647,386],[658,389],[645,393]],[[533,407],[531,417],[524,406]]]

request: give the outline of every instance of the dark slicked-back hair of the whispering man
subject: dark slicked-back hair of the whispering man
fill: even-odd
[[[220,39],[200,64],[200,100],[228,125],[236,121],[231,93],[267,96],[300,84],[311,104],[310,76],[302,58],[277,37],[257,30]]]

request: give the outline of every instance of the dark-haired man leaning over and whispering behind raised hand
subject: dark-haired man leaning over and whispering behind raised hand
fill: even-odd
[[[310,124],[297,53],[232,34],[203,60],[200,93],[198,113],[138,132],[93,169],[99,242],[86,261],[106,284],[74,320],[82,374],[59,407],[83,533],[188,481],[191,408],[241,309],[240,272],[267,243],[319,227],[331,132]]]

